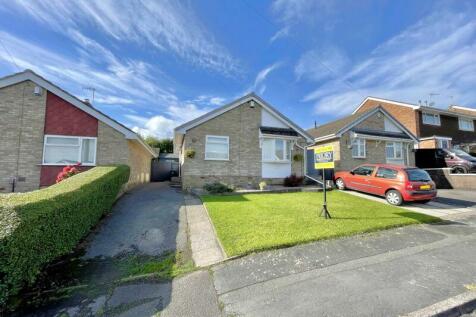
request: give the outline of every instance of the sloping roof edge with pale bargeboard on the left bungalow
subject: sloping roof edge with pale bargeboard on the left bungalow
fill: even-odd
[[[0,88],[11,86],[14,84],[18,84],[24,81],[30,80],[37,84],[38,86],[43,87],[44,89],[50,91],[51,93],[55,94],[56,96],[66,100],[73,106],[79,108],[80,110],[86,112],[87,114],[95,117],[101,122],[104,122],[111,128],[121,132],[126,139],[131,139],[131,140],[136,140],[138,143],[140,143],[150,154],[152,154],[154,157],[157,156],[157,154],[152,150],[150,146],[148,146],[142,138],[123,125],[122,123],[116,121],[115,119],[109,117],[108,115],[102,113],[98,109],[94,108],[91,103],[85,102],[76,96],[70,94],[66,90],[58,87],[57,85],[53,84],[52,82],[48,81],[47,79],[43,78],[42,76],[38,75],[34,71],[30,69],[26,69],[22,72],[11,74],[5,77],[0,78]]]

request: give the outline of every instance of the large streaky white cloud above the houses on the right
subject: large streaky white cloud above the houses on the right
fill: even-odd
[[[417,103],[428,99],[429,93],[439,93],[433,99],[438,107],[450,102],[470,106],[476,101],[476,21],[472,17],[474,10],[435,13],[303,100],[313,101],[317,114],[332,115],[351,112],[367,95]]]

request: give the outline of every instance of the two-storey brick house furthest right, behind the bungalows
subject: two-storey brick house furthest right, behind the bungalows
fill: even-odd
[[[353,112],[382,107],[419,138],[419,148],[459,146],[476,153],[476,109],[449,106],[447,110],[367,97]]]

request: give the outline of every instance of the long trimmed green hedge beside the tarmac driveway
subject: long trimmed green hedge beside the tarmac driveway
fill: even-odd
[[[0,195],[0,308],[75,248],[111,209],[129,172],[95,167],[45,189]]]

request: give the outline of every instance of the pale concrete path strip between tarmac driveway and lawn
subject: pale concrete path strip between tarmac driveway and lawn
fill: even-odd
[[[225,252],[217,239],[213,224],[201,200],[186,195],[185,204],[195,265],[205,267],[223,261],[226,258]]]

